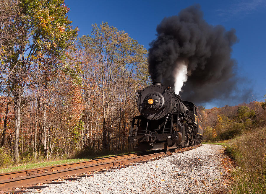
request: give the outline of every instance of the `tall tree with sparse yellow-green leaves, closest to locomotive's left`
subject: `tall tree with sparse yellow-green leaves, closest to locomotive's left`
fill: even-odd
[[[120,141],[121,126],[125,128],[127,101],[132,98],[132,85],[147,81],[147,50],[124,31],[119,31],[108,23],[100,27],[92,25],[91,36],[79,39],[83,48],[93,56],[91,63],[97,64],[99,77],[96,82],[100,89],[102,107],[102,150],[110,149],[110,138],[115,109],[119,109]],[[138,77],[139,76],[139,77]],[[142,77],[140,79],[140,77]],[[134,90],[136,91],[136,90]],[[119,105],[117,105],[119,103]],[[124,142],[123,142],[124,143]],[[120,143],[119,143],[120,144]]]

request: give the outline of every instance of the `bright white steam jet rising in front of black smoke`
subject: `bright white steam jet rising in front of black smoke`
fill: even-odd
[[[184,82],[187,81],[187,63],[185,60],[180,60],[176,64],[176,69],[174,71],[174,78],[175,78],[175,93],[179,94],[181,91]]]

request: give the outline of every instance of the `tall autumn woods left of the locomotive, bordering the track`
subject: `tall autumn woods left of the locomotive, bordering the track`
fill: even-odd
[[[77,38],[64,0],[0,2],[0,163],[128,148],[147,50],[108,23]]]

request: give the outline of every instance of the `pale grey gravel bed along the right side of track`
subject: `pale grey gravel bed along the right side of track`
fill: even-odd
[[[203,144],[172,156],[95,174],[79,181],[48,185],[34,193],[216,193],[224,190],[226,172],[222,166],[223,147]],[[206,185],[206,186],[205,186]]]

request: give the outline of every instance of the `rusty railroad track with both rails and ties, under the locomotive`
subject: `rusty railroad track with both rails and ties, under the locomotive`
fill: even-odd
[[[198,146],[200,145],[194,147],[186,147],[182,149],[175,149],[167,152],[146,154],[146,155],[141,155],[140,153],[128,154],[128,155],[113,156],[102,159],[94,159],[85,162],[76,162],[71,164],[62,164],[51,167],[43,167],[43,168],[22,170],[17,172],[3,173],[0,174],[0,191],[3,190],[6,193],[23,193],[23,191],[21,190],[15,191],[14,189],[21,187],[32,188],[32,189],[40,187],[42,188],[42,186],[33,186],[33,185],[41,182],[51,183],[52,180],[57,180],[59,178],[67,178],[70,176],[75,176],[74,179],[77,180],[79,177],[91,176],[92,172],[95,171],[98,171],[95,173],[100,173],[99,170],[101,169],[111,170],[114,168],[117,169],[119,167],[126,167],[128,165],[136,165],[139,163],[150,161],[151,159],[152,160],[157,159],[158,157],[168,156],[171,153],[180,153],[188,151]],[[127,165],[124,166],[125,164]],[[71,178],[70,180],[72,179],[73,178]],[[26,193],[27,191],[24,191],[24,194]]]

